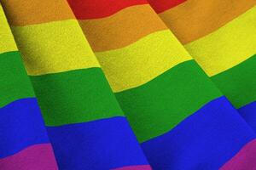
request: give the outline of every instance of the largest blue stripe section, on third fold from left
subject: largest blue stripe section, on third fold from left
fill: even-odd
[[[228,99],[220,97],[142,147],[154,169],[212,170],[254,138],[253,130]]]

